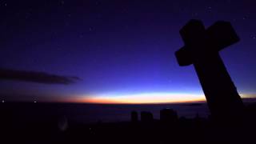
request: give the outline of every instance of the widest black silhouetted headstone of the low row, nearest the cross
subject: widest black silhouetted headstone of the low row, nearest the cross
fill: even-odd
[[[160,121],[161,122],[177,122],[178,114],[172,109],[160,110]]]

